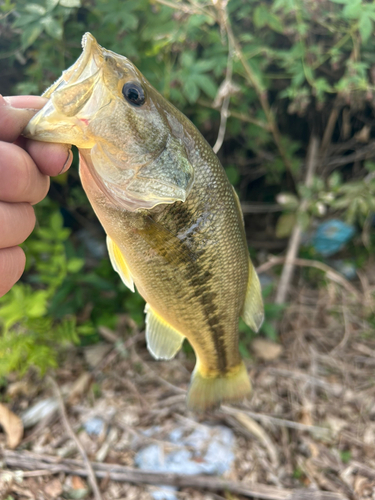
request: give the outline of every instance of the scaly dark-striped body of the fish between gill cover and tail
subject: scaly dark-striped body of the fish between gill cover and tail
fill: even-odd
[[[196,182],[186,202],[164,205],[162,210],[158,206],[145,214],[122,211],[99,190],[89,197],[98,196],[98,204],[106,206],[98,217],[110,214],[111,220],[105,218],[103,225],[121,241],[145,300],[185,333],[210,371],[223,373],[239,363],[238,317],[243,303],[238,297],[245,296],[248,257],[241,214],[224,170],[215,157],[212,167],[206,160],[196,161],[195,167]]]

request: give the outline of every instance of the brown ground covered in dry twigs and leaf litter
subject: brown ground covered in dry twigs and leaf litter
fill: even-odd
[[[134,476],[137,451],[157,443],[167,453],[176,446],[167,438],[176,426],[224,425],[235,434],[235,460],[221,478],[226,486],[210,476],[190,483],[170,476],[182,485],[177,498],[375,499],[374,266],[352,285],[327,276],[324,286],[312,287],[301,274],[278,325],[281,348],[250,346],[253,393],[240,405],[188,412],[193,359],[182,352],[173,361],[153,360],[144,333],[125,316],[118,331],[101,329],[103,343],[72,349],[52,377],[9,377],[7,407],[14,414],[47,398],[55,398],[56,410],[26,428],[13,451],[0,433],[0,497],[95,498],[78,436],[89,460],[101,464],[96,498],[149,500],[155,487],[144,484],[152,478]],[[84,427],[91,417],[103,423],[97,436]],[[156,435],[144,435],[155,426]],[[117,480],[108,471],[117,471]]]

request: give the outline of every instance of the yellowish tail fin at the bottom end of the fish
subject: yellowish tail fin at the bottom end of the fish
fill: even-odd
[[[241,362],[227,374],[205,377],[194,369],[187,395],[189,410],[206,411],[218,408],[224,401],[241,401],[249,395],[251,384],[245,364]]]

